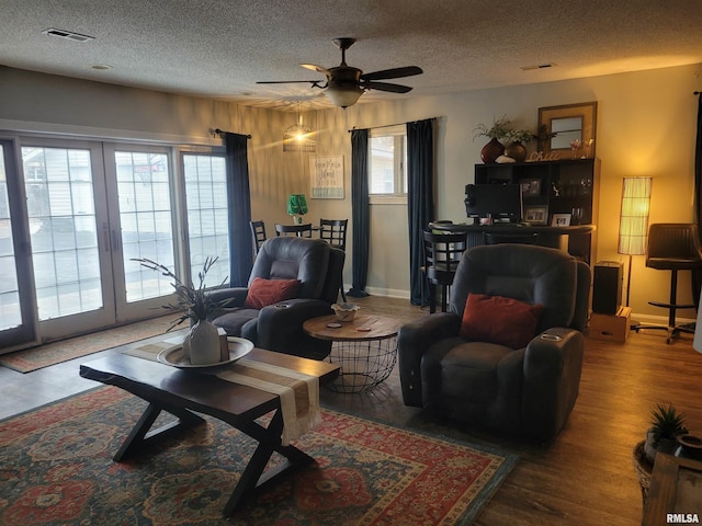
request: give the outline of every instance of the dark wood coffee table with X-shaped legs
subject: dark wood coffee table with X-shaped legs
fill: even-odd
[[[252,350],[247,358],[316,376],[320,384],[332,380],[339,374],[338,365],[260,348]],[[207,374],[210,370],[179,369],[135,356],[114,354],[82,364],[80,376],[120,387],[149,403],[115,454],[114,460],[117,462],[141,449],[147,442],[172,433],[176,428],[204,422],[195,413],[210,414],[256,439],[259,445],[224,508],[225,515],[231,515],[242,499],[254,489],[288,468],[308,465],[315,459],[292,445],[282,445],[283,416],[278,395],[234,384]],[[161,411],[173,414],[178,420],[149,432]],[[256,422],[256,419],[271,411],[274,414],[268,427]],[[263,474],[273,451],[284,456],[286,461]]]

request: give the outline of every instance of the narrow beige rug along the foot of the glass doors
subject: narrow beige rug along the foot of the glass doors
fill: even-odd
[[[32,370],[68,362],[105,348],[162,334],[171,325],[173,319],[172,315],[163,316],[152,320],[129,323],[128,325],[115,327],[114,329],[92,334],[39,345],[38,347],[15,351],[14,353],[0,355],[0,365],[20,373],[31,373]]]

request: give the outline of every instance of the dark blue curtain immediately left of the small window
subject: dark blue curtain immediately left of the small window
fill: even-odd
[[[353,221],[352,287],[348,295],[363,298],[369,276],[369,245],[371,237],[369,207],[369,130],[351,132],[351,219]]]

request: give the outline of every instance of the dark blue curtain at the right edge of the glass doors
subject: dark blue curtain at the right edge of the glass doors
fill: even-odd
[[[245,287],[253,266],[251,252],[251,190],[249,187],[248,136],[225,133],[227,205],[229,207],[229,284]]]

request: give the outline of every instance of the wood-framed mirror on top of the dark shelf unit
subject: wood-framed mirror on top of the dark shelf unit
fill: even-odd
[[[562,159],[573,156],[570,142],[581,146],[576,157],[595,157],[597,101],[539,108],[539,151],[556,151]]]

